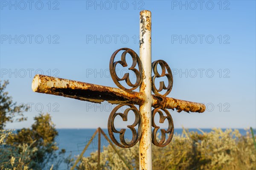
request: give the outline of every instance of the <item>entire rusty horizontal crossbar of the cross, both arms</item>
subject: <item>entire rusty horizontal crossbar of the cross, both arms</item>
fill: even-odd
[[[140,105],[144,102],[144,95],[140,92],[123,91],[119,88],[111,88],[102,85],[94,85],[86,82],[35,75],[32,82],[32,90],[38,93],[53,94],[83,101],[100,103],[108,101],[112,104],[134,104]],[[152,96],[154,108],[177,109],[178,112],[205,111],[205,105],[189,102],[165,96]]]

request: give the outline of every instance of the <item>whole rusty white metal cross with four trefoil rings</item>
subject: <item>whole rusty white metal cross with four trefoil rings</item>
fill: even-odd
[[[115,61],[115,57],[121,54],[121,60]],[[133,84],[130,81],[129,73],[126,73],[122,78],[116,75],[116,65],[127,67],[125,60],[126,54],[132,58],[132,65],[129,70],[136,75],[136,82]],[[160,65],[162,72],[159,74],[157,65]],[[130,48],[121,48],[116,50],[110,59],[110,73],[113,81],[119,88],[111,88],[102,85],[95,85],[86,82],[78,82],[74,80],[48,77],[44,75],[36,75],[32,82],[32,89],[38,93],[53,94],[58,96],[79,99],[83,101],[101,103],[107,101],[111,104],[118,104],[111,112],[108,119],[108,133],[112,141],[119,147],[132,147],[138,141],[140,169],[152,169],[152,150],[151,144],[156,146],[166,146],[171,142],[174,133],[174,125],[171,114],[167,109],[174,109],[178,112],[204,112],[205,105],[201,103],[188,102],[184,100],[166,97],[172,90],[173,77],[172,71],[163,60],[157,60],[151,63],[151,12],[140,12],[140,57]],[[152,76],[153,71],[153,76]],[[168,85],[162,81],[159,88],[155,86],[155,79],[159,77],[167,77]],[[126,82],[131,88],[125,88],[120,82]],[[140,91],[134,90],[140,86]],[[165,94],[160,94],[165,90]],[[153,91],[154,95],[152,95]],[[139,110],[134,106],[139,105]],[[119,108],[127,106],[124,113],[117,113]],[[154,108],[153,111],[151,108]],[[135,114],[135,121],[127,127],[132,132],[131,141],[125,140],[125,129],[116,130],[114,127],[114,119],[116,116],[121,116],[123,121],[127,121],[129,111]],[[156,114],[160,116],[160,123],[166,119],[169,122],[167,130],[160,129],[154,122]],[[166,116],[164,116],[164,113]],[[137,127],[137,130],[136,128]],[[154,128],[152,131],[152,127]],[[161,138],[157,139],[157,130],[160,129]],[[120,141],[118,141],[113,133],[119,133]],[[166,139],[166,136],[167,139]]]

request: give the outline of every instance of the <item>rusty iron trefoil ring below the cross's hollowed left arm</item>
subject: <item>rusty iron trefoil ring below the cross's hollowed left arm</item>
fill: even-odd
[[[125,109],[124,113],[116,113],[116,111],[121,108],[122,106],[129,106],[130,108]],[[127,127],[129,129],[131,129],[132,132],[132,139],[130,142],[126,142],[125,141],[125,130],[126,129],[121,129],[120,131],[116,130],[116,128],[114,127],[114,119],[116,118],[117,115],[122,117],[123,121],[127,121],[127,114],[129,111],[133,111],[135,114],[135,121],[132,125],[128,125]],[[134,105],[130,105],[130,104],[122,104],[122,105],[118,105],[116,106],[113,111],[111,112],[109,118],[108,118],[108,134],[110,136],[110,138],[112,139],[112,141],[119,147],[133,147],[138,140],[140,139],[141,136],[141,115],[140,115],[140,111],[138,111],[138,109],[134,106]],[[136,129],[134,128],[135,126],[138,125],[138,132],[136,131]],[[120,137],[120,142],[119,143],[114,134],[113,133],[119,133],[119,137]]]

